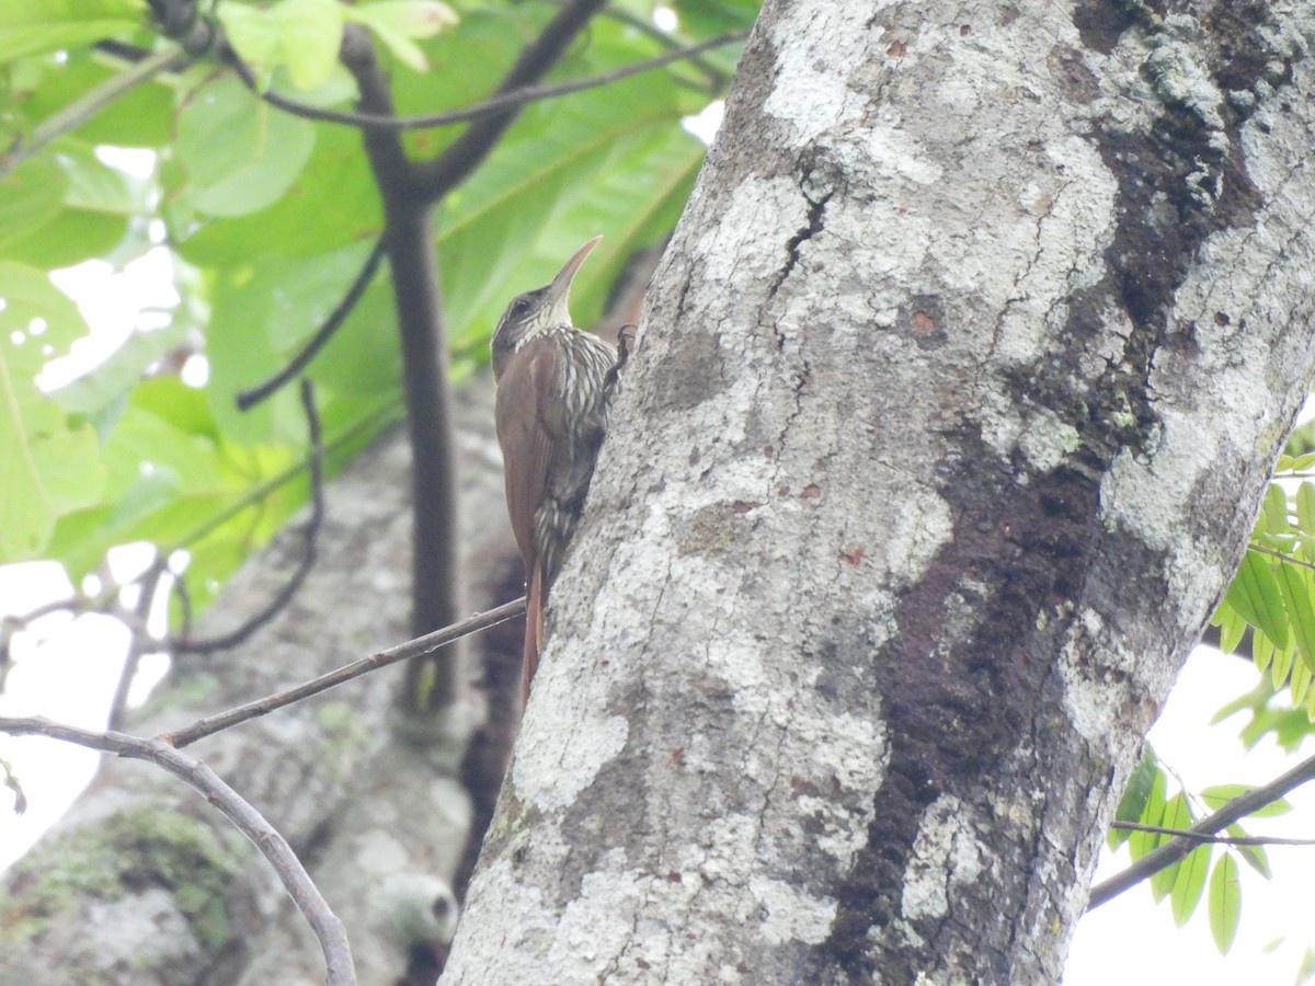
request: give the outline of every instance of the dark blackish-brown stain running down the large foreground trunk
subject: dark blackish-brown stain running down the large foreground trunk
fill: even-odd
[[[1262,37],[1268,11],[1258,1],[1216,3],[1203,21],[1215,83],[1256,99],[1223,100],[1207,113],[1176,99],[1174,80],[1157,78],[1155,59],[1148,59],[1144,76],[1162,100],[1149,130],[1130,134],[1109,126],[1091,134],[1119,188],[1116,233],[1106,254],[1110,273],[1069,298],[1073,344],[1066,352],[1020,368],[1007,381],[1019,404],[1072,422],[1078,451],[1020,484],[1015,477],[1028,469],[1026,461],[1002,460],[972,427],[947,435],[957,451],[947,463],[953,479],[940,492],[953,507],[953,538],[903,596],[898,635],[874,656],[888,703],[889,769],[867,845],[839,890],[832,933],[814,953],[819,974],[839,966],[851,981],[868,981],[880,951],[885,982],[917,979],[926,948],[901,954],[902,943],[881,932],[902,918],[903,882],[926,809],[943,794],[981,803],[990,794],[986,778],[1040,728],[1035,710],[1045,705],[1039,701],[1059,688],[1057,643],[1066,623],[1057,614],[1074,599],[1116,607],[1130,598],[1126,580],[1109,564],[1111,550],[1139,557],[1144,590],[1162,593],[1162,560],[1144,557],[1145,546],[1103,530],[1099,481],[1114,456],[1140,448],[1156,423],[1147,393],[1152,359],[1190,359],[1195,348],[1194,326],[1177,325],[1168,314],[1198,248],[1215,230],[1248,225],[1261,204],[1243,167],[1239,129],[1264,95],[1266,87],[1258,84],[1289,84],[1297,57]],[[1099,51],[1112,50],[1134,26],[1148,30],[1155,46],[1161,30],[1159,18],[1139,21],[1128,8],[1094,0],[1078,4],[1074,21],[1084,43]],[[1202,51],[1199,43],[1193,47]],[[1070,99],[1090,92],[1085,66],[1078,66],[1077,53],[1059,53],[1052,64]],[[1107,335],[1111,305],[1127,312],[1134,330],[1122,360],[1088,383],[1073,360],[1085,340]],[[926,314],[924,305],[914,308]],[[917,329],[913,309],[907,327]],[[1157,580],[1161,585],[1149,584]],[[970,626],[956,628],[956,605],[970,614]],[[1168,615],[1165,621],[1156,630],[1169,640],[1176,628]],[[1019,919],[1026,887],[1006,887],[988,908],[955,907],[948,919],[913,920],[913,931],[953,958],[956,943],[974,940],[955,922]],[[963,961],[981,981],[1010,978],[1003,954]]]

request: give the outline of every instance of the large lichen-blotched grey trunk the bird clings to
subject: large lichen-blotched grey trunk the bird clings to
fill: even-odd
[[[1312,42],[769,0],[444,982],[1059,978],[1310,380]]]

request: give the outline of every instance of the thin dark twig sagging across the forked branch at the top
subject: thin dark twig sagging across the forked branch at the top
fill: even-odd
[[[383,113],[350,113],[346,110],[312,106],[306,103],[280,96],[277,92],[262,92],[255,75],[241,62],[241,59],[234,58],[231,60],[231,66],[238,74],[238,78],[249,89],[251,89],[251,92],[258,95],[271,106],[277,106],[279,109],[292,113],[293,116],[305,117],[306,120],[321,120],[329,124],[358,126],[363,130],[423,130],[439,126],[451,126],[452,124],[466,124],[472,120],[479,120],[480,117],[493,116],[494,113],[513,109],[515,106],[523,106],[527,103],[538,103],[540,100],[556,99],[558,96],[568,96],[573,92],[583,92],[584,89],[608,85],[622,79],[629,79],[631,75],[639,75],[640,72],[648,72],[654,68],[661,68],[673,62],[697,58],[704,51],[732,45],[747,37],[748,32],[746,30],[730,32],[729,34],[719,34],[715,38],[701,41],[697,45],[686,45],[685,47],[679,47],[672,51],[664,51],[663,54],[647,58],[643,62],[635,62],[633,64],[622,66],[621,68],[613,68],[608,72],[590,75],[586,79],[569,79],[563,83],[554,83],[552,85],[525,85],[518,89],[490,96],[489,99],[469,106],[417,117],[394,117]]]

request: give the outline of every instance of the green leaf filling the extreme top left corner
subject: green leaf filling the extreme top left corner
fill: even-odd
[[[145,11],[145,0],[7,0],[0,4],[0,62],[133,30]]]

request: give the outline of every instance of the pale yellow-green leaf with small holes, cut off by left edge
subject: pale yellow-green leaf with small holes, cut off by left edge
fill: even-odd
[[[59,515],[93,502],[104,485],[95,431],[34,384],[85,331],[45,272],[0,262],[0,561],[36,557]]]

